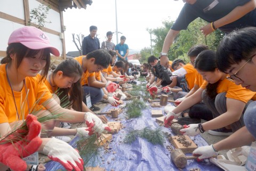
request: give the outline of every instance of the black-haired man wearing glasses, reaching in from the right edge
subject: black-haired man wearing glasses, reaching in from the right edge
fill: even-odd
[[[221,41],[217,51],[217,65],[222,72],[229,74],[227,79],[256,91],[256,27],[247,27],[228,34]],[[193,154],[199,159],[210,158],[220,150],[250,145],[256,138],[254,123],[256,102],[252,102],[244,113],[245,126],[227,139],[212,145],[201,146]]]

